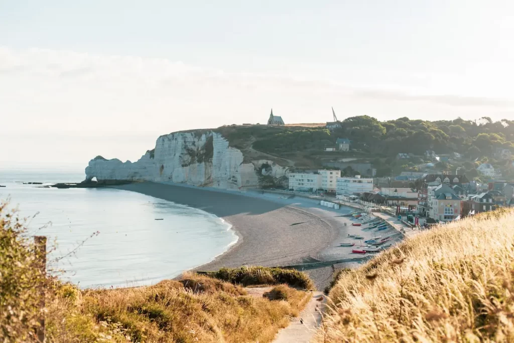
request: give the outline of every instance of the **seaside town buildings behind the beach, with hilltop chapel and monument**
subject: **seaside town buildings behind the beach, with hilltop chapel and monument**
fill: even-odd
[[[345,122],[337,119],[334,109],[332,113],[334,121],[326,122],[325,128],[334,132]],[[271,112],[268,125],[284,125],[284,121]],[[439,154],[428,150],[430,146],[423,155],[397,153],[394,159],[405,170],[396,174],[391,171],[388,176],[377,175],[369,161],[359,161],[359,146],[358,141],[337,137],[335,145],[324,147],[322,152],[340,154],[326,164],[336,168],[290,172],[287,190],[380,207],[412,227],[429,227],[514,207],[511,146],[488,147],[489,155],[475,158],[458,152]],[[345,154],[352,157],[345,158]],[[496,168],[490,160],[495,161]],[[508,176],[503,177],[502,171]]]

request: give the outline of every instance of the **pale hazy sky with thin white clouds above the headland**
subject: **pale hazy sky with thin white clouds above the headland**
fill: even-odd
[[[513,37],[508,0],[0,0],[0,168],[136,160],[271,107],[514,119]]]

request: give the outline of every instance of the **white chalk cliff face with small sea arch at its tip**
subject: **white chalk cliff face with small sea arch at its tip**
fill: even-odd
[[[229,147],[220,133],[208,131],[160,136],[155,149],[138,161],[123,163],[97,156],[86,167],[86,180],[172,181],[222,189],[281,183],[288,168],[269,160],[243,163],[243,153]]]

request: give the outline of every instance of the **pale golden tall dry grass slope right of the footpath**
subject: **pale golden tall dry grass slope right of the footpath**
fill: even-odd
[[[318,342],[514,341],[514,211],[420,233],[340,275]]]

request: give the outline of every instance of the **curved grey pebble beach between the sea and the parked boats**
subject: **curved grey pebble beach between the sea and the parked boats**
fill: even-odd
[[[349,218],[339,216],[350,213],[352,209],[323,208],[317,201],[301,197],[288,199],[259,191],[242,193],[151,182],[115,188],[199,208],[232,225],[239,237],[237,243],[195,270],[242,265],[286,266],[352,258],[347,252],[342,252],[339,243],[348,233],[360,232],[360,228],[350,226]],[[340,267],[348,266],[330,265],[306,272],[322,289],[332,280],[334,268]]]

